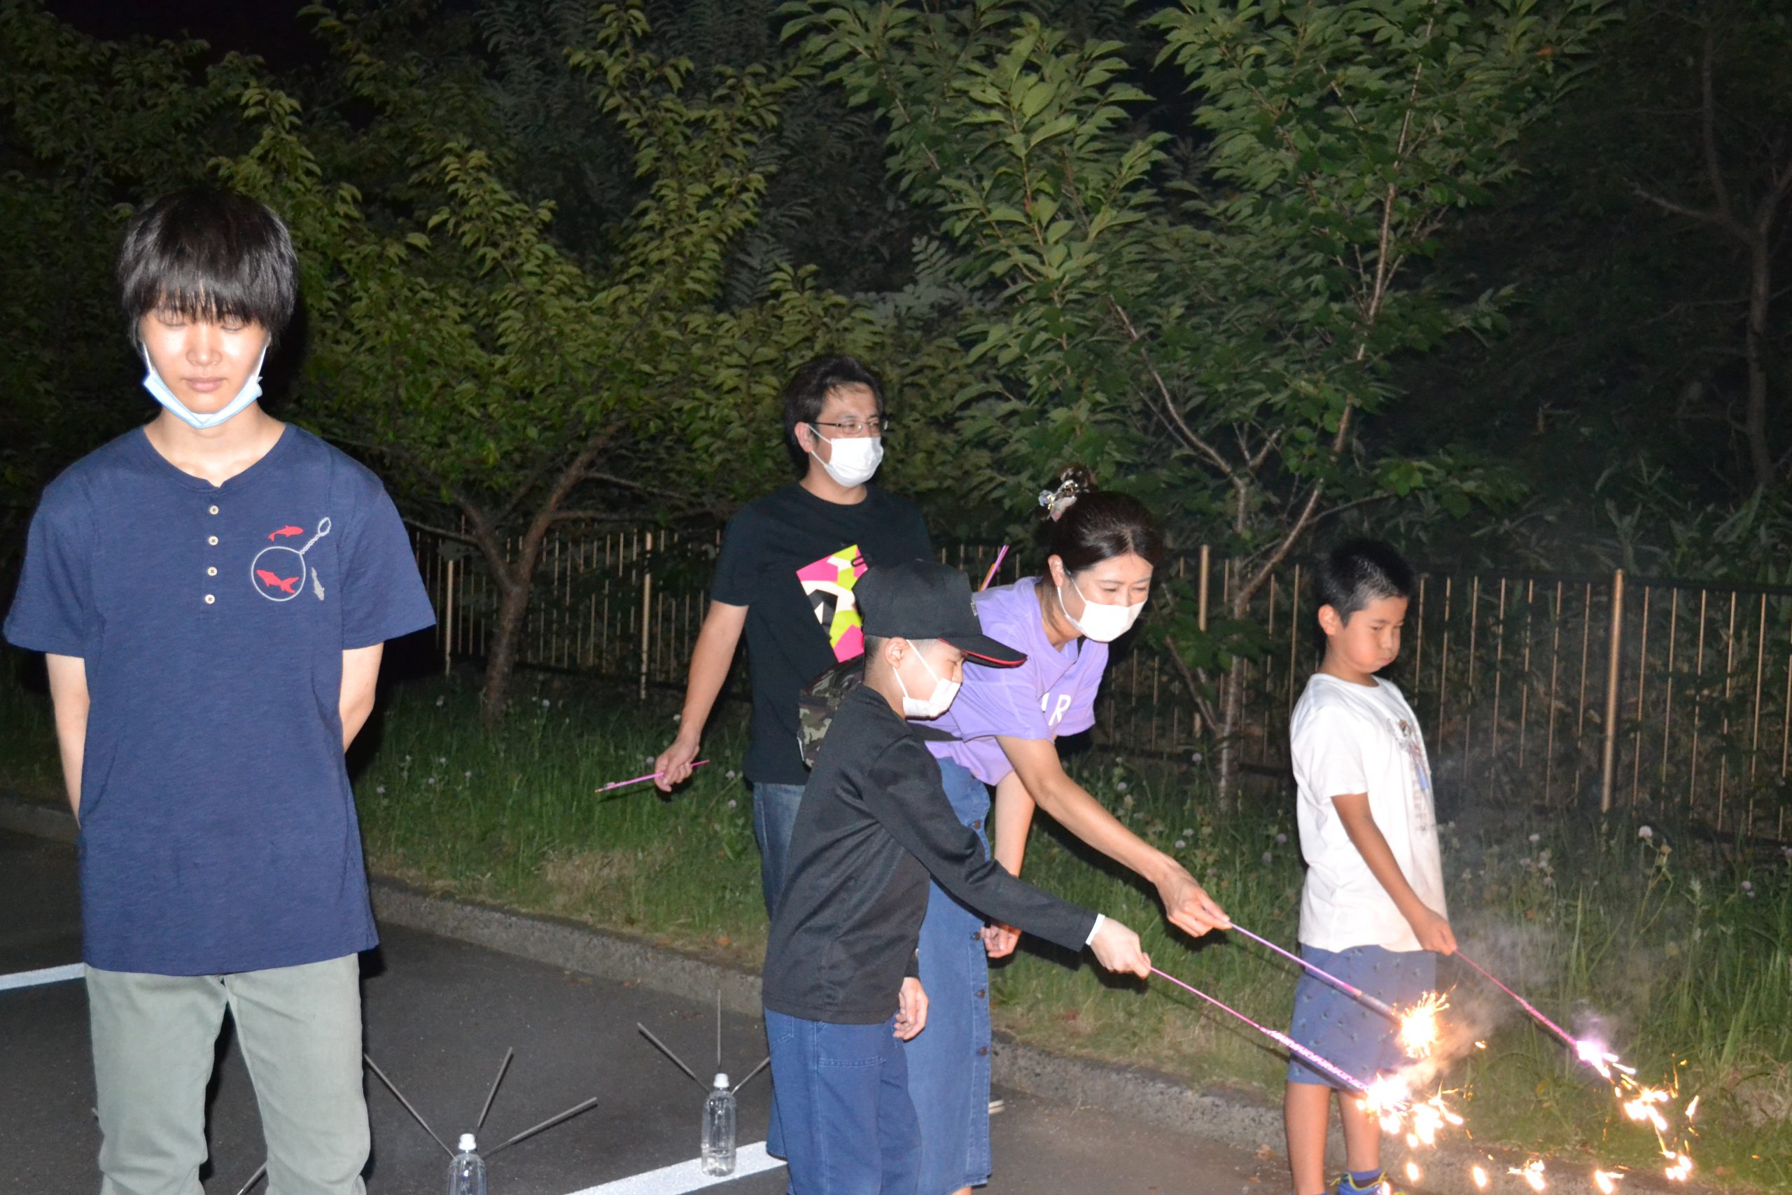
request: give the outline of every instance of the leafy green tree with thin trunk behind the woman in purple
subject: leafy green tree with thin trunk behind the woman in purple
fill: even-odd
[[[1462,208],[1514,172],[1518,138],[1573,77],[1600,0],[1188,0],[1145,18],[1195,91],[1177,124],[1118,41],[1077,41],[1018,0],[792,4],[849,95],[889,122],[889,163],[939,213],[977,324],[977,428],[1009,469],[1075,453],[1125,471],[1236,563],[1229,620],[1168,647],[1220,736],[1233,792],[1240,656],[1271,572],[1315,523],[1487,478],[1443,457],[1373,459],[1362,421],[1389,364],[1489,328],[1428,269]],[[1181,168],[1179,168],[1181,167]],[[996,484],[991,480],[989,484]],[[1222,799],[1224,799],[1222,797]]]

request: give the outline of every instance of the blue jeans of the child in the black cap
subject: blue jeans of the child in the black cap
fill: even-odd
[[[790,1195],[916,1195],[921,1138],[894,1018],[831,1025],[767,1009],[765,1039]]]

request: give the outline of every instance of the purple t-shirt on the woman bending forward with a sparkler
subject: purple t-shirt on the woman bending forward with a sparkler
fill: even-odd
[[[966,663],[964,688],[943,717],[928,722],[955,742],[928,749],[995,785],[1014,770],[996,735],[1050,740],[1095,726],[1095,690],[1107,668],[1107,645],[1072,640],[1063,649],[1052,647],[1036,577],[978,593],[977,622],[989,638],[1027,652],[1027,663],[1018,668]]]

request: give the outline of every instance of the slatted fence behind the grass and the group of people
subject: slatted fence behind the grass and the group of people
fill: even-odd
[[[477,555],[425,534],[418,561],[444,666],[484,656],[495,595]],[[548,541],[520,661],[622,679],[642,697],[683,686],[719,536],[616,530]],[[980,582],[995,545],[939,559]],[[1202,611],[1228,611],[1226,561],[1170,561]],[[1021,575],[1014,554],[996,584]],[[1287,776],[1287,727],[1319,661],[1308,579],[1278,572],[1253,598],[1267,638],[1242,666],[1235,749]],[[1122,641],[1095,740],[1116,752],[1208,758],[1181,672],[1149,636]],[[1711,831],[1783,840],[1792,808],[1792,589],[1620,573],[1425,573],[1391,668],[1412,702],[1441,795],[1555,810],[1681,813]]]

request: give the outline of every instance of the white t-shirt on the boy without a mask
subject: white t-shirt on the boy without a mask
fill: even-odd
[[[1369,686],[1315,674],[1294,706],[1288,738],[1299,787],[1301,855],[1308,865],[1301,941],[1319,950],[1421,950],[1331,804],[1333,797],[1369,794],[1369,815],[1407,883],[1430,908],[1448,916],[1432,765],[1412,706],[1387,681]]]

